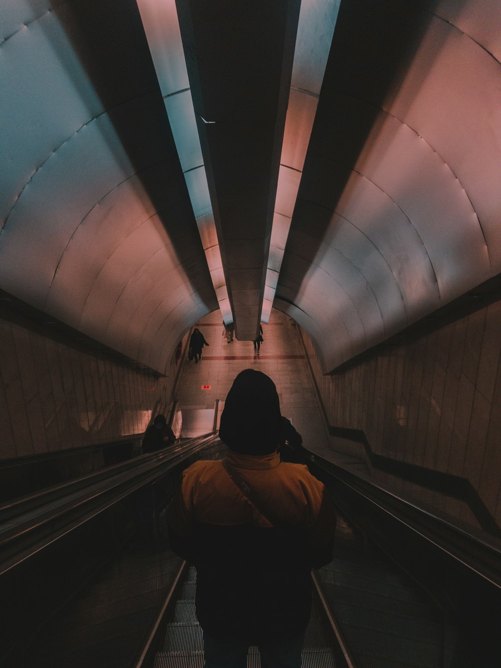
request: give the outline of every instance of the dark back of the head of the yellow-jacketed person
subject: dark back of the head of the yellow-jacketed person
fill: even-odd
[[[277,449],[280,433],[280,402],[275,383],[261,371],[241,371],[224,402],[220,439],[234,452],[261,455]]]

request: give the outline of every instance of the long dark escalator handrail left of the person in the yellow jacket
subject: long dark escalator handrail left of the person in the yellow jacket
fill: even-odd
[[[217,439],[210,432],[7,504],[9,516],[0,523],[0,574]]]

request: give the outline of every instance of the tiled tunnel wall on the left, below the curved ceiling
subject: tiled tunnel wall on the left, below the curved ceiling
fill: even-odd
[[[172,405],[175,351],[156,378],[5,320],[0,351],[3,460],[120,440]]]

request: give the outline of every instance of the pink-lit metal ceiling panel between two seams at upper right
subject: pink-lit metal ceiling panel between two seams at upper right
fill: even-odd
[[[491,3],[490,13],[498,17],[499,51],[500,3]],[[501,271],[499,76],[499,61],[474,38],[435,18],[402,86],[385,105],[426,140],[470,198],[493,273]]]

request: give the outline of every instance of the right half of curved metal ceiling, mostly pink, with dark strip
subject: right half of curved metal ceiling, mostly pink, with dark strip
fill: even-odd
[[[312,335],[327,365],[499,272],[501,68],[472,37],[494,37],[480,7],[496,14],[341,3],[277,285],[328,332]]]

